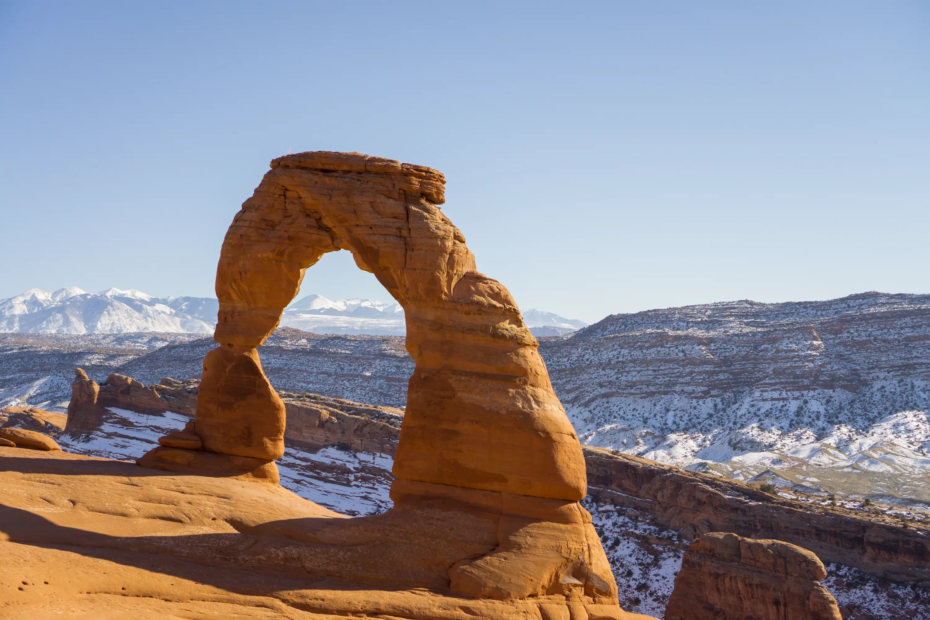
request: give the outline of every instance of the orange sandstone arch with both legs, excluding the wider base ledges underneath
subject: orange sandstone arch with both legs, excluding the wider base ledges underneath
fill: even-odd
[[[585,495],[578,437],[538,342],[510,292],[476,270],[464,236],[437,206],[444,184],[432,168],[357,152],[272,161],[220,253],[221,347],[206,358],[197,402],[206,450],[283,454],[283,405],[254,351],[304,271],[345,249],[405,310],[416,370],[394,475],[562,500]]]

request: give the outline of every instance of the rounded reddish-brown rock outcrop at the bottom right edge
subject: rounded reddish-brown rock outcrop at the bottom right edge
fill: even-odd
[[[665,620],[841,620],[826,576],[801,547],[705,534],[684,554]]]

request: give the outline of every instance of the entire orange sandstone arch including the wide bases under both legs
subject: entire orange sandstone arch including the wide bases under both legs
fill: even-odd
[[[601,607],[621,617],[604,549],[578,504],[586,494],[578,437],[510,292],[476,270],[438,208],[444,183],[431,168],[360,153],[274,160],[220,252],[219,348],[204,360],[194,427],[164,437],[139,463],[216,475],[227,459],[231,475],[274,480],[286,405],[257,348],[304,271],[349,250],[404,307],[416,363],[393,508],[324,529],[286,525],[299,543],[270,557],[312,574],[478,599],[558,597],[546,617]],[[191,434],[201,450],[185,447]]]

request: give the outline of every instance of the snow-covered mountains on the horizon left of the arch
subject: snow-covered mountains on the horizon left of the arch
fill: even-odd
[[[219,302],[209,297],[159,299],[135,289],[108,288],[93,294],[76,286],[54,293],[33,288],[0,300],[0,332],[211,334],[218,310]]]

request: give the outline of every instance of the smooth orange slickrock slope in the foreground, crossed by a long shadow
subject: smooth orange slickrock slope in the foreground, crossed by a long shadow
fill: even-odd
[[[398,496],[393,515],[349,519],[269,484],[16,448],[0,448],[0,493],[4,618],[647,617],[558,595],[455,596],[436,561],[465,548],[447,533],[493,545],[498,518],[489,505],[458,510],[448,495],[431,507]],[[384,581],[399,565],[418,587]],[[352,571],[365,578],[332,576]]]

